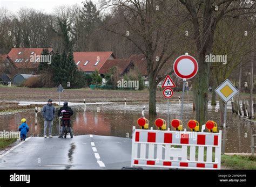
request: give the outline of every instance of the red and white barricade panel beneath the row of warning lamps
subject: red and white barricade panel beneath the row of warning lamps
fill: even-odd
[[[138,130],[133,127],[134,167],[220,169],[219,133]]]

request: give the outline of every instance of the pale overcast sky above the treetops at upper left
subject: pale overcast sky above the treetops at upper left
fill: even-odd
[[[98,6],[99,0],[91,1]],[[83,0],[0,0],[0,5],[11,12],[17,12],[20,8],[27,7],[51,13],[56,6],[81,4],[82,2]]]

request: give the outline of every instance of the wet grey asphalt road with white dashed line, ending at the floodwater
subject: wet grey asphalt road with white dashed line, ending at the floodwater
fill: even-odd
[[[32,137],[0,156],[0,169],[122,169],[131,166],[131,146],[113,136]]]

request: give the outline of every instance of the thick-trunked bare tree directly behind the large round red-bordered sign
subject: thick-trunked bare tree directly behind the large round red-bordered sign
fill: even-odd
[[[210,63],[205,62],[205,56],[212,53],[216,26],[223,18],[239,18],[255,13],[255,3],[252,1],[188,1],[179,0],[191,17],[193,38],[196,45],[199,71],[193,81],[193,94],[196,104],[196,119],[200,124],[207,120],[208,85]]]

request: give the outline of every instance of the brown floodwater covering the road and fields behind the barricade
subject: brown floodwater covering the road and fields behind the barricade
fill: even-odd
[[[146,105],[145,117],[148,118],[147,103],[100,103],[86,105],[72,105],[74,115],[72,116],[72,128],[74,135],[96,134],[106,136],[118,136],[131,138],[132,126],[137,125],[137,119],[142,117],[143,106]],[[170,102],[170,121],[179,119],[180,104]],[[232,114],[231,103],[227,105],[227,128],[226,128],[226,153],[251,153],[251,134],[256,134],[256,123],[247,120],[244,117]],[[217,105],[218,107],[218,105]],[[167,121],[167,103],[157,103],[157,118],[163,118]],[[183,127],[187,128],[187,121],[195,118],[195,112],[192,110],[192,104],[184,104]],[[39,112],[37,116],[37,125],[35,125],[35,111],[25,110],[21,112],[0,113],[0,131],[17,131],[22,118],[27,119],[30,127],[28,136],[43,136],[43,117]],[[208,105],[208,120],[216,121],[218,129],[219,110],[215,112],[215,106]],[[154,121],[154,120],[153,120]],[[154,129],[153,121],[150,126]],[[190,131],[190,130],[188,130]],[[53,121],[52,135],[58,135],[58,118]]]

